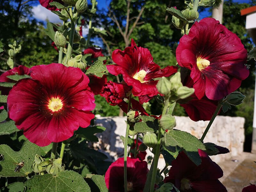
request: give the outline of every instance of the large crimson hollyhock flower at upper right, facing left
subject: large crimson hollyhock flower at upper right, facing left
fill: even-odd
[[[204,38],[202,38],[204,36]],[[235,91],[248,77],[244,65],[247,51],[236,34],[213,18],[195,22],[189,34],[180,39],[177,62],[191,70],[198,99],[220,100]]]

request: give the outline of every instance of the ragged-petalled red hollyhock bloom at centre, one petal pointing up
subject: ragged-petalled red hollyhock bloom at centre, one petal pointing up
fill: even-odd
[[[168,77],[177,72],[177,67],[168,66],[163,69],[153,62],[153,57],[149,50],[137,47],[132,39],[131,47],[126,47],[124,51],[116,49],[112,53],[115,65],[107,65],[109,73],[117,76],[123,75],[127,85],[132,86],[132,94],[135,96],[148,95],[153,97],[157,91],[154,81],[158,77]]]

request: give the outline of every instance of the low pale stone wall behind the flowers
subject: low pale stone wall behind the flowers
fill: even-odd
[[[176,116],[176,127],[174,129],[189,132],[200,138],[209,121],[194,122],[189,117]],[[115,160],[124,156],[124,145],[120,136],[125,136],[126,117],[101,117],[97,116],[95,125],[106,127],[106,131],[99,133],[98,143],[94,143],[101,152],[108,155],[109,160]],[[244,118],[217,116],[212,127],[207,133],[204,142],[212,142],[219,146],[226,147],[230,153],[211,156],[216,163],[238,156],[243,152],[244,144]],[[149,154],[149,151],[147,151]],[[160,160],[160,162],[162,162]],[[162,166],[161,166],[162,167]]]

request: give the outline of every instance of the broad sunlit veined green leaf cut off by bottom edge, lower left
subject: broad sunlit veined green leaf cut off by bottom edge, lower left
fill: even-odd
[[[51,191],[51,192],[90,192],[89,185],[77,172],[66,170],[57,175],[36,175],[24,183],[28,192]]]

